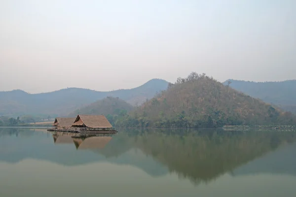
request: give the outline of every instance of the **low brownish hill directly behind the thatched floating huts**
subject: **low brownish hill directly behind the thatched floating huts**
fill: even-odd
[[[69,116],[75,117],[77,114],[91,114],[91,115],[119,115],[122,111],[124,113],[129,112],[134,107],[127,103],[126,101],[114,98],[114,97],[107,97],[102,100],[98,100],[93,102],[85,107],[81,107],[74,112],[72,112]]]

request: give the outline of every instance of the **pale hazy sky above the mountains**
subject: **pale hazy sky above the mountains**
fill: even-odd
[[[108,91],[191,71],[296,79],[296,0],[0,0],[0,91]]]

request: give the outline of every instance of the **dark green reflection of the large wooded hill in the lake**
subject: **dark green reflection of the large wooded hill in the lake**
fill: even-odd
[[[200,131],[187,134],[147,132],[137,135],[144,153],[193,182],[209,181],[294,142],[293,132]]]

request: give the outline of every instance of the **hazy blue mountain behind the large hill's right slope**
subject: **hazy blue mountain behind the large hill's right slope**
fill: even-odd
[[[229,79],[230,87],[296,114],[296,80],[251,82]],[[227,85],[227,81],[223,84]]]

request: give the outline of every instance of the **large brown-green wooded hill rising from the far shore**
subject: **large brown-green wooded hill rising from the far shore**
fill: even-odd
[[[221,127],[295,123],[291,113],[224,86],[205,74],[193,72],[125,116],[120,126]]]

